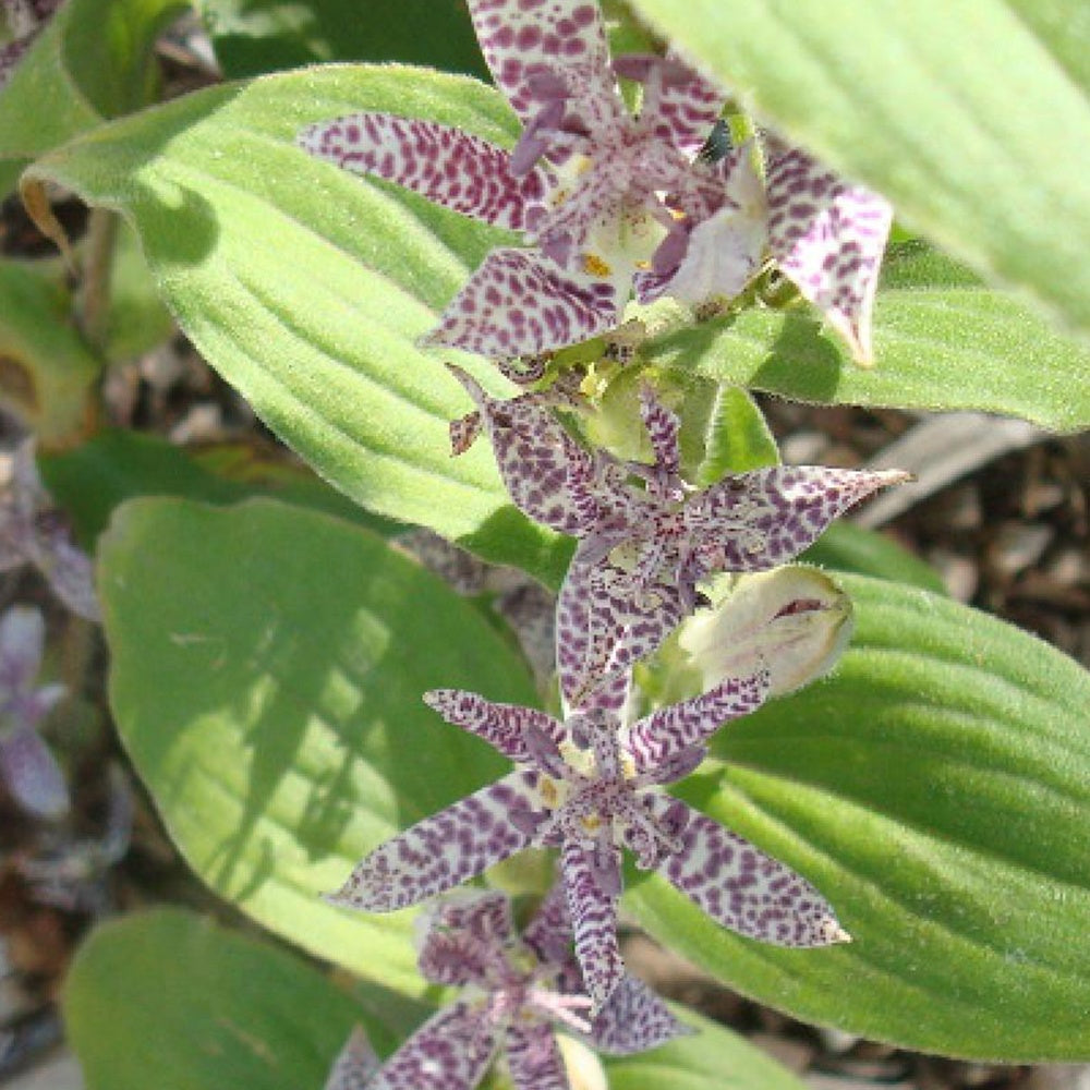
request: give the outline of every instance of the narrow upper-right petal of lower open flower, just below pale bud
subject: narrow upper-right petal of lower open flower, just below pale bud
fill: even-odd
[[[767,669],[749,677],[727,678],[714,689],[661,707],[634,723],[626,749],[635,760],[637,772],[649,772],[685,750],[702,747],[731,719],[755,712],[768,697]]]

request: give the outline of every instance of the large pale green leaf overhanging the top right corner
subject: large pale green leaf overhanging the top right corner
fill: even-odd
[[[1090,332],[1083,0],[634,5],[906,226]]]

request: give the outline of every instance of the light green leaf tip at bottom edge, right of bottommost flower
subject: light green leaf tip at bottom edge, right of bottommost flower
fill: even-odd
[[[677,1013],[695,1036],[637,1056],[606,1059],[610,1090],[801,1090],[794,1075],[744,1038],[691,1010]]]

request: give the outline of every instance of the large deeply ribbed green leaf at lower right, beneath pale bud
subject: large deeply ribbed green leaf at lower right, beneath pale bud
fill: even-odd
[[[784,950],[712,924],[662,880],[628,906],[731,986],[925,1052],[1090,1058],[1090,675],[924,591],[843,577],[829,680],[716,737],[685,794],[798,868],[853,936]]]

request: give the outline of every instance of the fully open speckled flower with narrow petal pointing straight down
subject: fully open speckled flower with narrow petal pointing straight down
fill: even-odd
[[[809,883],[659,790],[692,772],[708,738],[759,707],[768,688],[768,671],[758,666],[623,729],[601,707],[560,723],[474,693],[433,690],[428,705],[489,742],[516,771],[382,845],[330,900],[392,911],[523,848],[558,847],[576,953],[598,1007],[623,977],[616,936],[622,846],[741,934],[786,946],[841,941],[832,909]]]

